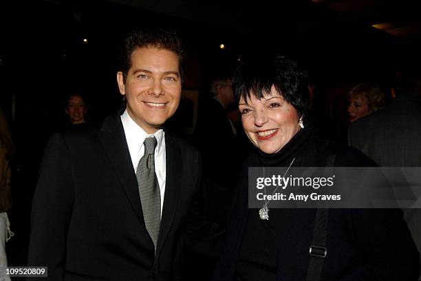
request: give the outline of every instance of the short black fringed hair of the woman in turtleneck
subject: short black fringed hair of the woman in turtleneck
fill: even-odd
[[[298,63],[279,54],[248,58],[235,70],[233,91],[237,103],[241,97],[248,100],[254,95],[263,98],[274,88],[296,109],[299,117],[308,111],[309,93],[307,72]]]

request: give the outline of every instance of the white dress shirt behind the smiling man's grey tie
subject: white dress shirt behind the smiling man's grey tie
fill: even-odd
[[[136,122],[131,119],[127,109],[120,116],[123,128],[125,130],[127,146],[129,146],[129,153],[131,157],[131,163],[133,164],[133,171],[136,174],[136,168],[140,158],[144,155],[144,139],[147,137],[155,136],[158,144],[155,147],[155,173],[158,178],[158,184],[160,185],[161,195],[161,216],[162,207],[164,206],[164,194],[165,194],[165,177],[166,177],[166,162],[165,162],[165,135],[164,130],[158,130],[153,135],[146,133]],[[140,200],[140,195],[139,195]]]

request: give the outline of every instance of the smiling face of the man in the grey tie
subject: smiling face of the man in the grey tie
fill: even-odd
[[[139,48],[131,56],[131,68],[120,93],[126,96],[127,113],[149,134],[155,133],[177,110],[181,96],[179,60],[167,49]]]

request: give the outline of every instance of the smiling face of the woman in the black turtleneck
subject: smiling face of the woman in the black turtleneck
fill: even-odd
[[[296,109],[273,86],[261,100],[240,98],[239,111],[246,135],[263,153],[277,153],[300,129]]]

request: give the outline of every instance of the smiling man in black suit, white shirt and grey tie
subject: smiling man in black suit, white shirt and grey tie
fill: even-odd
[[[125,110],[51,137],[28,258],[48,267],[42,280],[180,277],[184,240],[209,230],[199,155],[162,128],[180,102],[183,54],[171,32],[133,32],[117,73]]]

